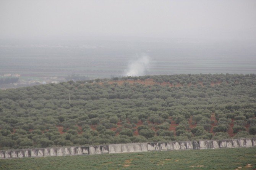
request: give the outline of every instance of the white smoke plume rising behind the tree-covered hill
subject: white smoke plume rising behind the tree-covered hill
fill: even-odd
[[[141,76],[145,74],[145,71],[149,68],[149,56],[143,55],[136,61],[129,64],[128,69],[125,72],[125,76]]]

